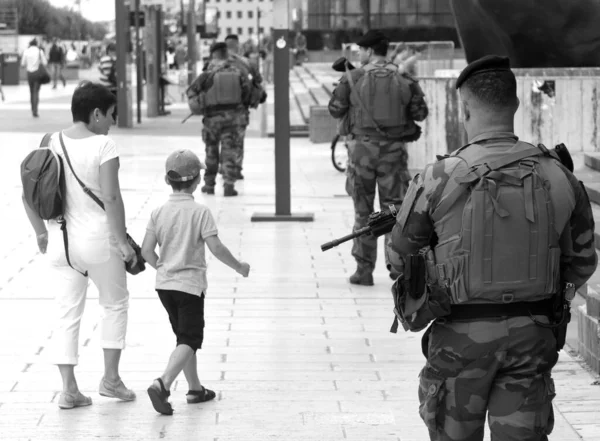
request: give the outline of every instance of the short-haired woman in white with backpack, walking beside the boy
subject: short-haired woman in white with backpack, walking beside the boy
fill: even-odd
[[[55,276],[49,289],[56,290],[58,316],[48,356],[63,380],[61,409],[92,404],[80,392],[74,373],[89,279],[98,288],[103,309],[100,395],[135,399],[121,380],[119,360],[129,308],[126,270],[143,270],[143,260],[137,256],[141,251],[125,228],[119,154],[107,136],[115,124],[116,97],[101,84],[85,83],[73,94],[71,112],[73,125],[46,135],[42,148],[31,152],[21,165],[25,211]]]

